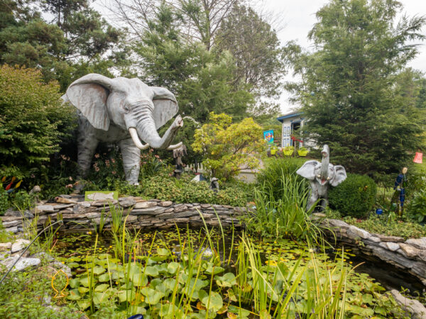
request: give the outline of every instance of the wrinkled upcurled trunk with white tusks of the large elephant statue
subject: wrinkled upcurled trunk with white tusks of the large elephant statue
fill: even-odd
[[[170,145],[170,142],[173,141],[176,133],[178,133],[178,129],[183,125],[183,121],[180,116],[175,118],[175,121],[165,132],[163,138],[160,138],[160,135],[158,135],[158,132],[155,128],[155,122],[153,120],[151,108],[144,108],[142,111],[130,113],[129,116],[127,116],[126,125],[129,128],[133,142],[135,143],[136,147],[140,148],[141,150],[146,149],[147,147],[158,149],[167,148],[173,150],[176,147],[180,147],[180,145],[182,145],[182,142],[177,145]],[[139,139],[143,140],[147,144],[142,145]]]

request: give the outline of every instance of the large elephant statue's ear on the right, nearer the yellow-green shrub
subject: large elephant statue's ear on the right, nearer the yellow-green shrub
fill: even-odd
[[[153,118],[155,128],[158,130],[158,128],[163,126],[170,120],[170,118],[173,118],[173,116],[178,113],[179,106],[175,99],[175,95],[168,89],[158,86],[151,86],[151,89],[154,92]]]

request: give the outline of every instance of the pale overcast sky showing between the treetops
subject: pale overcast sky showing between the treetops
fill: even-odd
[[[253,3],[256,3],[254,0]],[[94,2],[94,8],[104,13],[102,10],[102,2],[104,0],[97,0]],[[315,12],[320,9],[324,4],[327,4],[327,0],[296,0],[296,1],[284,1],[284,0],[262,0],[258,3],[262,3],[267,11],[271,11],[279,16],[280,21],[283,21],[285,28],[279,31],[278,38],[280,38],[281,44],[284,45],[290,40],[295,40],[299,45],[305,48],[310,48],[311,43],[307,40],[307,33],[312,28],[313,24],[317,21],[315,18]],[[426,0],[400,0],[403,4],[402,13],[406,13],[408,16],[415,15],[426,15]],[[401,14],[402,14],[401,13]],[[426,29],[423,30],[426,33]],[[422,72],[426,72],[426,42],[425,45],[419,47],[419,54],[410,62],[410,67],[420,69]],[[291,81],[293,77],[291,74],[285,78],[286,81]],[[291,111],[291,108],[295,106],[290,105],[288,101],[289,94],[283,92],[280,98],[281,111],[287,113]]]

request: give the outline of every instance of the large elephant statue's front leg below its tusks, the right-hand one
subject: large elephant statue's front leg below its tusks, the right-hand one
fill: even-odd
[[[139,170],[141,169],[141,150],[136,147],[131,138],[120,141],[121,155],[123,155],[123,167],[126,181],[129,184],[138,185]]]

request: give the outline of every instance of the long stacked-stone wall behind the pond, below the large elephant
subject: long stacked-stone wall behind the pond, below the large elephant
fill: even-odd
[[[24,223],[29,223],[38,216],[38,228],[50,218],[52,222],[62,218],[65,229],[82,230],[93,228],[94,224],[101,223],[104,219],[104,228],[111,228],[110,205],[123,208],[123,220],[129,228],[172,228],[175,225],[187,225],[192,227],[219,225],[217,215],[223,227],[240,226],[238,216],[241,216],[245,208],[226,205],[210,205],[200,203],[173,203],[171,201],[143,200],[138,197],[123,197],[118,201],[84,201],[83,196],[62,195],[56,198],[55,203],[38,203],[31,211],[22,213],[18,211],[6,211],[0,216],[6,230],[12,233],[23,231]],[[216,211],[216,213],[215,213]],[[62,216],[62,217],[60,217]]]

